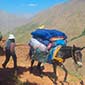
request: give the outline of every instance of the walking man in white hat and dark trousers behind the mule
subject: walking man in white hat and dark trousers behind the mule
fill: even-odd
[[[10,57],[12,56],[13,62],[14,62],[14,69],[17,68],[17,57],[15,53],[15,37],[13,34],[9,34],[9,37],[6,41],[6,46],[5,46],[5,54],[6,54],[6,59],[4,63],[2,64],[3,68],[6,68],[7,63],[9,62]]]

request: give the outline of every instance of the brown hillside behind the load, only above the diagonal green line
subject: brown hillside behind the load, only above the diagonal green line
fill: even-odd
[[[17,30],[17,39],[27,41],[30,32],[40,24],[46,28],[55,28],[64,31],[68,39],[81,34],[85,29],[85,0],[71,0],[68,3],[55,5],[34,16],[30,22]],[[22,35],[21,35],[22,34]],[[24,40],[21,40],[24,37]]]

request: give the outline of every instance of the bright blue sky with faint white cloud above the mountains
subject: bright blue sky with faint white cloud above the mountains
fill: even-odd
[[[36,14],[68,0],[0,0],[0,10],[12,14]]]

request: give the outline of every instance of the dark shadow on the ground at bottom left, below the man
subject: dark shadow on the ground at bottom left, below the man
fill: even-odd
[[[23,74],[23,72],[28,71],[28,68],[18,67],[17,69],[13,68],[0,68],[0,85],[37,85],[35,82],[21,82],[18,79],[18,76]]]

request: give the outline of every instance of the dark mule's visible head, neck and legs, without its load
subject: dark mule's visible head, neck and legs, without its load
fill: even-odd
[[[73,46],[64,46],[59,50],[59,52],[62,54],[62,59],[64,60],[64,62],[65,62],[66,59],[72,58],[74,60],[74,63],[76,65],[78,65],[78,67],[82,67],[82,53],[81,53],[81,51],[84,48],[85,47],[82,47],[82,48],[76,47],[75,45],[73,45]],[[31,48],[30,51],[29,51],[30,58],[31,58],[32,53],[33,53],[32,51],[33,51],[33,48]],[[34,61],[35,60],[32,60],[32,58],[31,58],[31,68],[34,64]],[[42,62],[38,63],[38,67],[40,67],[41,63]],[[59,62],[59,61],[53,59],[51,64],[53,65],[53,71],[54,71],[54,83],[56,83],[56,81],[57,81],[57,73],[56,73],[57,66],[60,66],[65,71],[64,82],[66,82],[68,71],[65,68],[63,62]]]

